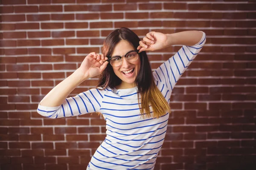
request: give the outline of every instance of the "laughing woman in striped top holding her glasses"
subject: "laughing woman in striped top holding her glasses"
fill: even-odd
[[[106,38],[102,54],[87,55],[42,99],[38,113],[49,118],[102,113],[107,135],[87,170],[153,170],[166,134],[172,89],[205,40],[201,31],[152,31],[140,41],[130,29],[116,29]],[[176,44],[183,47],[152,73],[145,51]],[[99,74],[96,88],[67,98],[81,82]]]

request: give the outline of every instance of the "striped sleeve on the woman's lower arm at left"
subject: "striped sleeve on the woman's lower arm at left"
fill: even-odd
[[[52,119],[99,112],[103,96],[104,90],[93,88],[67,98],[62,105],[57,107],[46,107],[39,104],[37,112]]]

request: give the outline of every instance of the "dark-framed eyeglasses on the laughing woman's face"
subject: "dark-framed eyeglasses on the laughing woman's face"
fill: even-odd
[[[111,57],[111,56],[107,56],[107,57]],[[125,59],[127,59],[127,61],[129,62],[134,62],[139,58],[138,50],[129,51],[128,53],[122,56],[113,56],[107,59],[107,61],[110,62],[110,64],[113,67],[118,67],[122,64],[122,57],[125,57]]]

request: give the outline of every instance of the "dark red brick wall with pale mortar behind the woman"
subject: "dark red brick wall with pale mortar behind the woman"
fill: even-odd
[[[0,170],[85,170],[105,138],[95,113],[47,119],[38,102],[101,51],[115,28],[202,30],[207,42],[171,98],[155,170],[256,167],[255,0],[2,0]],[[180,46],[148,52],[152,68]],[[71,96],[95,87],[83,82]]]

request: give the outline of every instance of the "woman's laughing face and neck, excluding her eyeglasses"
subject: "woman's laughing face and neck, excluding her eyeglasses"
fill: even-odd
[[[111,57],[125,55],[128,51],[131,50],[136,49],[134,49],[133,45],[131,45],[130,42],[126,40],[121,40],[114,48]],[[122,80],[121,84],[116,88],[133,88],[134,81],[140,70],[140,56],[138,56],[138,59],[134,62],[129,62],[127,59],[125,59],[125,57],[122,57],[122,64],[118,67],[112,68],[116,76]]]

